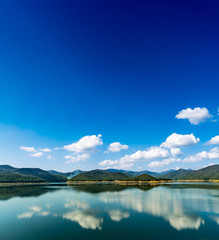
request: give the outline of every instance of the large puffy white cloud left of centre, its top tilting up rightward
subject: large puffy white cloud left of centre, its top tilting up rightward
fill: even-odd
[[[97,136],[96,135],[85,136],[81,138],[78,142],[64,146],[63,149],[76,153],[86,152],[97,146],[103,145],[101,137],[102,137],[101,134]]]

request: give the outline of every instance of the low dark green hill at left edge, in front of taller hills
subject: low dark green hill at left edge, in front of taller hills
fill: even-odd
[[[39,183],[45,182],[45,180],[14,172],[0,173],[0,183],[38,183],[38,182]]]

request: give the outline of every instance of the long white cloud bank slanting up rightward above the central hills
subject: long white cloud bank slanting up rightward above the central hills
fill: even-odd
[[[119,160],[105,160],[99,163],[100,166],[113,166],[114,168],[133,167],[135,162],[150,160],[155,158],[165,158],[169,156],[169,151],[161,147],[150,147],[144,151],[137,151],[131,155],[125,155]],[[116,165],[116,166],[115,166]]]

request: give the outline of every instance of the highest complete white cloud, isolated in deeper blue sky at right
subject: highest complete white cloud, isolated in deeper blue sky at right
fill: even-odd
[[[181,110],[177,115],[177,119],[188,119],[191,124],[198,125],[200,122],[204,122],[205,120],[213,117],[207,108],[187,108]]]

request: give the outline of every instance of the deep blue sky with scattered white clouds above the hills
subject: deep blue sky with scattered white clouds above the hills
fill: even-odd
[[[0,4],[0,164],[219,163],[217,1]]]

